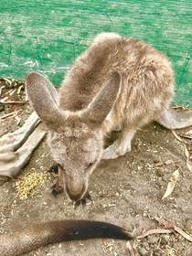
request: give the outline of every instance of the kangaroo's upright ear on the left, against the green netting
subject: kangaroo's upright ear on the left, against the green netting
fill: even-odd
[[[39,118],[54,128],[62,114],[59,111],[58,93],[54,86],[41,74],[31,71],[26,78],[27,97]]]

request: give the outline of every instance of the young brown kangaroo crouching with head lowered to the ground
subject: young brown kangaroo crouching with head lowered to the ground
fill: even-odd
[[[47,124],[59,165],[55,190],[78,202],[88,196],[91,172],[101,159],[131,150],[136,129],[155,120],[166,128],[192,125],[192,112],[176,112],[174,72],[167,57],[144,41],[101,33],[78,57],[61,84],[59,98],[48,79],[29,72],[27,95]],[[104,137],[121,125],[106,149]]]

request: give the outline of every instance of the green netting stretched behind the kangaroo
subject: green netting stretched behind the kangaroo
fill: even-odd
[[[101,31],[137,37],[165,52],[176,71],[175,102],[192,105],[192,2],[1,0],[0,77],[42,70],[56,85]]]

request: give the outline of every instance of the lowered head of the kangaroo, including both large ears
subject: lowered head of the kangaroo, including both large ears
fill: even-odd
[[[89,106],[78,112],[59,109],[57,91],[37,72],[28,73],[26,84],[29,101],[48,126],[49,145],[59,165],[62,186],[72,200],[79,201],[86,196],[89,176],[101,159],[102,123],[116,100],[120,74],[113,72]]]

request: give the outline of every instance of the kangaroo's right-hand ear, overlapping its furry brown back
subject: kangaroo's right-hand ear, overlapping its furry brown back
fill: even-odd
[[[105,120],[108,113],[112,110],[112,105],[120,91],[120,86],[121,74],[115,71],[104,81],[101,91],[97,93],[89,107],[83,113],[91,123],[101,124]]]

